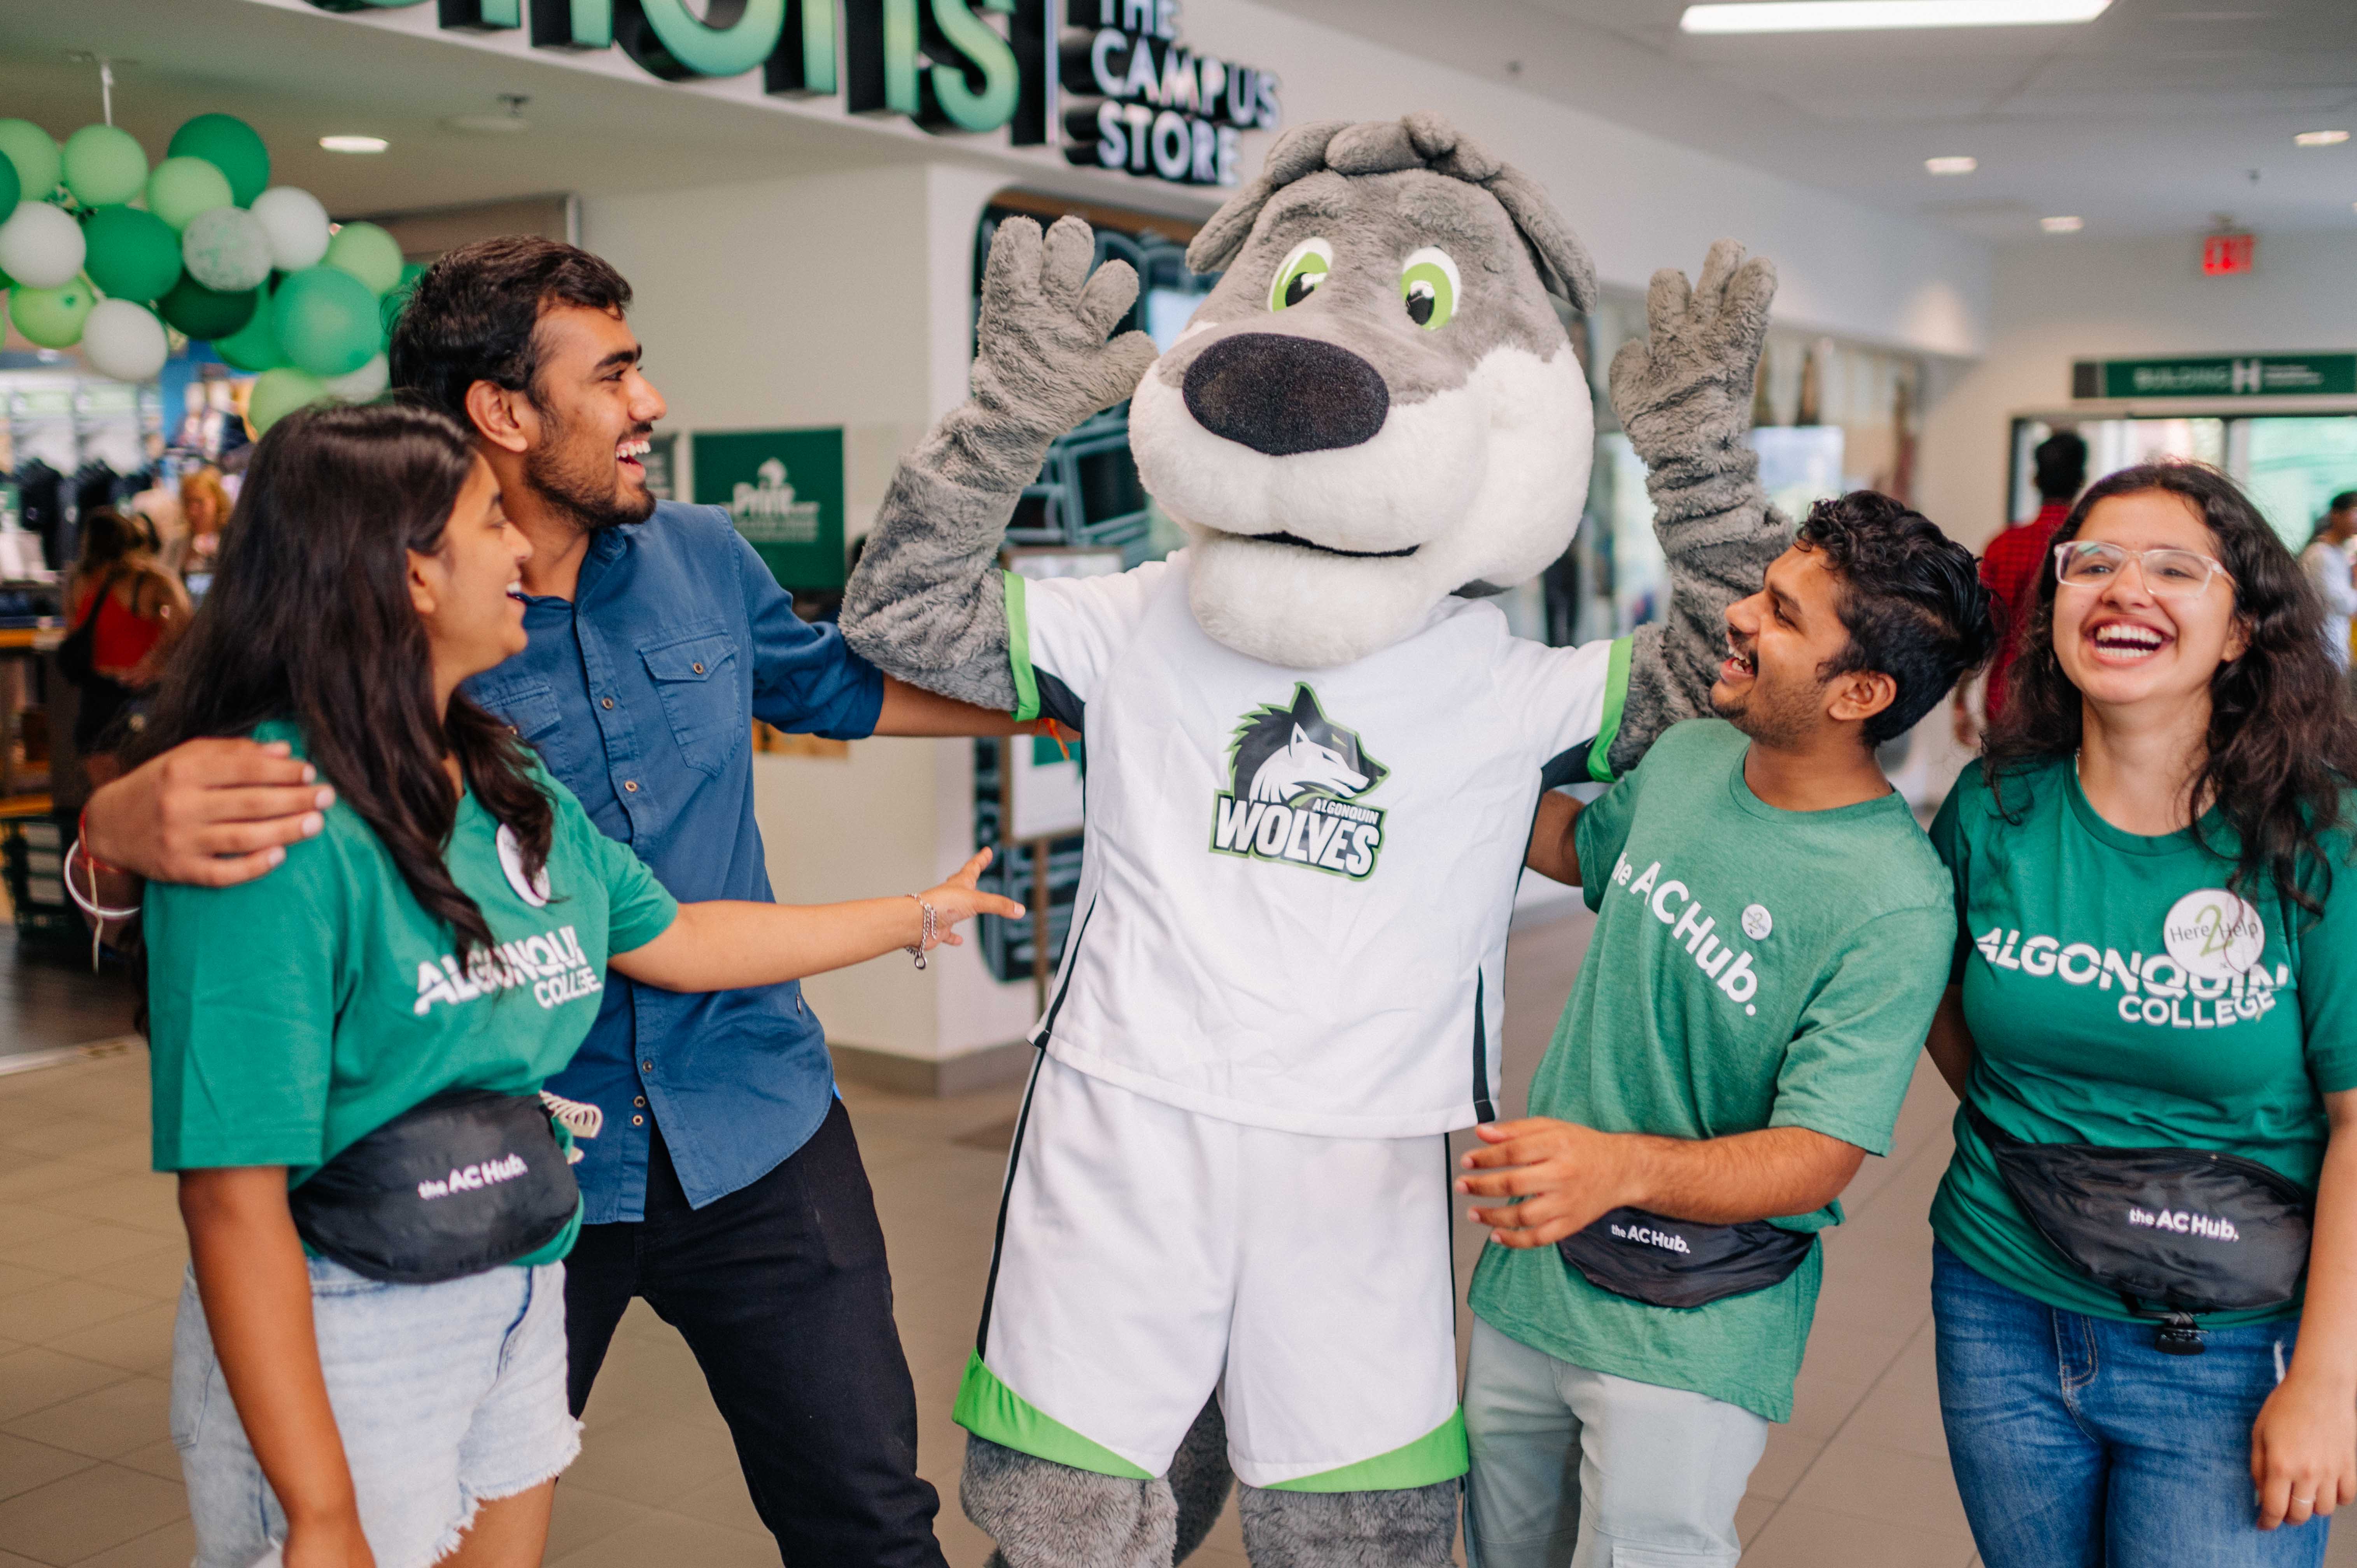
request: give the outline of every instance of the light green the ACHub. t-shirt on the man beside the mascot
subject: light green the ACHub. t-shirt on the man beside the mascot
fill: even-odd
[[[1673,1139],[1810,1127],[1883,1153],[1956,941],[1947,877],[1897,795],[1780,811],[1744,783],[1747,750],[1732,724],[1678,724],[1582,811],[1596,934],[1530,1113]],[[1838,1221],[1838,1203],[1777,1219]],[[1820,1273],[1813,1247],[1780,1285],[1666,1309],[1553,1247],[1492,1243],[1473,1311],[1560,1361],[1784,1422]]]

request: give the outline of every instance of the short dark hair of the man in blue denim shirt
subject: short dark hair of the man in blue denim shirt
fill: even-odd
[[[464,429],[467,389],[507,387],[540,408],[540,316],[556,304],[629,309],[629,283],[580,245],[502,233],[460,245],[401,297],[387,356],[394,389]]]

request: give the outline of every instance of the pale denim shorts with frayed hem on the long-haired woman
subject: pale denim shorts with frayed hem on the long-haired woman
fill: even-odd
[[[429,1568],[483,1502],[580,1452],[566,1405],[566,1269],[382,1285],[311,1259],[311,1323],[377,1568]],[[193,1568],[247,1568],[288,1526],[212,1353],[196,1276],[172,1332],[172,1443],[196,1521]]]

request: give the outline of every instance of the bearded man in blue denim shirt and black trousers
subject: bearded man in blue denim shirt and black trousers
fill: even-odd
[[[467,245],[417,281],[394,380],[474,427],[533,542],[516,589],[530,646],[469,696],[674,896],[768,901],[752,719],[834,738],[1014,726],[884,679],[794,615],[726,512],[648,495],[639,457],[665,406],[627,307],[629,285],[570,245]],[[325,804],[295,769],[191,743],[92,799],[92,851],[163,879],[262,875],[269,844],[316,832]],[[585,1155],[573,1412],[646,1297],[695,1351],[787,1563],[943,1568],[884,1233],[801,988],[676,995],[608,976],[549,1089]]]

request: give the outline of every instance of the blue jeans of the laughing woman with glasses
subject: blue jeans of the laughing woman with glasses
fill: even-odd
[[[2315,1568],[2326,1518],[2258,1528],[2251,1422],[2298,1323],[2204,1335],[2046,1306],[1930,1252],[1940,1419],[1987,1568]]]

